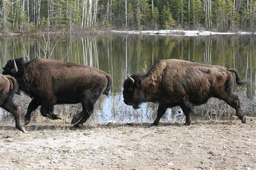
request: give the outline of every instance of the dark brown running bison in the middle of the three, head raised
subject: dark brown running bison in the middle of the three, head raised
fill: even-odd
[[[25,124],[30,122],[31,112],[41,105],[41,114],[50,119],[60,119],[53,114],[55,104],[82,103],[83,111],[71,121],[78,128],[91,116],[93,107],[103,93],[109,95],[112,79],[109,74],[94,67],[55,59],[22,58],[9,60],[3,74],[14,76],[19,90],[32,98],[25,115]],[[11,70],[16,72],[11,72]]]

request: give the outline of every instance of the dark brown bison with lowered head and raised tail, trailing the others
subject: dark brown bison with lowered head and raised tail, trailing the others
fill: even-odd
[[[146,75],[127,75],[124,102],[134,109],[138,109],[143,102],[159,103],[157,118],[152,126],[158,125],[167,108],[179,105],[186,116],[185,125],[190,125],[193,106],[206,103],[210,97],[217,97],[234,108],[236,115],[245,123],[239,98],[233,93],[230,72],[235,73],[238,84],[247,83],[247,80],[240,79],[235,69],[177,59],[160,60]]]

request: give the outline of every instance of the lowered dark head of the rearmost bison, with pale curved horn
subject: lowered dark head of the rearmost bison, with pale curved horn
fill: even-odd
[[[142,87],[142,76],[138,74],[127,75],[124,81],[124,103],[132,105],[133,109],[140,108],[139,105],[144,102],[145,96]]]

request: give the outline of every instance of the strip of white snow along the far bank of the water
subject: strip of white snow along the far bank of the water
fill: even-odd
[[[212,31],[185,31],[185,30],[159,30],[159,31],[117,31],[112,30],[113,33],[126,33],[126,34],[147,34],[159,36],[211,36],[211,35],[232,35],[232,34],[256,34],[256,32],[212,32]]]

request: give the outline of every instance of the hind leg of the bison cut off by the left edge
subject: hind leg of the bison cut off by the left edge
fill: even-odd
[[[21,125],[21,115],[19,114],[19,107],[14,103],[9,102],[8,104],[3,105],[3,108],[9,111],[12,115],[14,115],[16,128],[25,133],[25,130]]]

